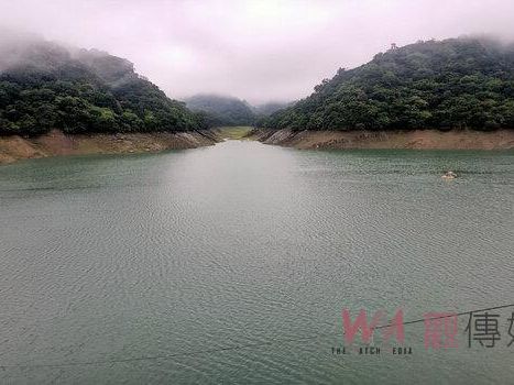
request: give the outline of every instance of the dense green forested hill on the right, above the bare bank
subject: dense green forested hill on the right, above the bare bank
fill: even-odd
[[[514,45],[485,37],[418,42],[358,68],[263,122],[272,129],[514,128]]]

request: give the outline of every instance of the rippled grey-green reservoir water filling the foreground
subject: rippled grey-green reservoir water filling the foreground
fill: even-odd
[[[514,304],[513,188],[512,152],[228,141],[1,166],[0,382],[512,383],[514,307],[490,311],[492,348],[462,316],[457,348],[406,324],[405,355],[360,355],[341,311]]]

